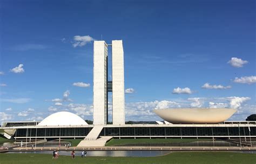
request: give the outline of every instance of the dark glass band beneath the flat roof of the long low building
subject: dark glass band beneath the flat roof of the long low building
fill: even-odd
[[[92,127],[81,128],[24,128],[16,137],[86,136]],[[251,131],[251,132],[250,132]],[[104,127],[100,136],[256,136],[256,127]]]

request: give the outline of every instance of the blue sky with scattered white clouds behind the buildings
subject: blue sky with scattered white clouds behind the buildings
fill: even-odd
[[[161,120],[152,110],[167,107],[237,108],[230,120],[256,113],[255,1],[0,4],[1,121],[63,110],[92,119],[102,38],[123,40],[126,121]]]

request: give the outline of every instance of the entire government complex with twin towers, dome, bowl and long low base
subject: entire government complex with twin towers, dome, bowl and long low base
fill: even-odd
[[[108,49],[112,46],[112,81],[108,80]],[[112,92],[113,124],[108,122],[108,92]],[[93,43],[93,125],[78,115],[57,112],[42,121],[2,122],[4,136],[15,140],[101,138],[212,138],[256,139],[256,121],[226,121],[230,108],[176,108],[152,111],[164,121],[125,124],[123,41]],[[153,121],[153,120],[152,120]],[[83,145],[83,144],[82,144]],[[86,145],[86,144],[85,144]],[[79,146],[79,145],[78,145]]]

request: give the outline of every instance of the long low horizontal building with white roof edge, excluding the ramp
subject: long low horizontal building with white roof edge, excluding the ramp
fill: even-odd
[[[85,138],[93,125],[87,126],[16,126],[14,139],[37,138]],[[212,125],[105,125],[99,136],[114,138],[254,138],[256,124],[212,124]]]

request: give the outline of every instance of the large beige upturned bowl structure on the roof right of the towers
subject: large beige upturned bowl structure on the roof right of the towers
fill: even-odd
[[[218,124],[236,111],[231,108],[174,108],[153,112],[172,124]]]

